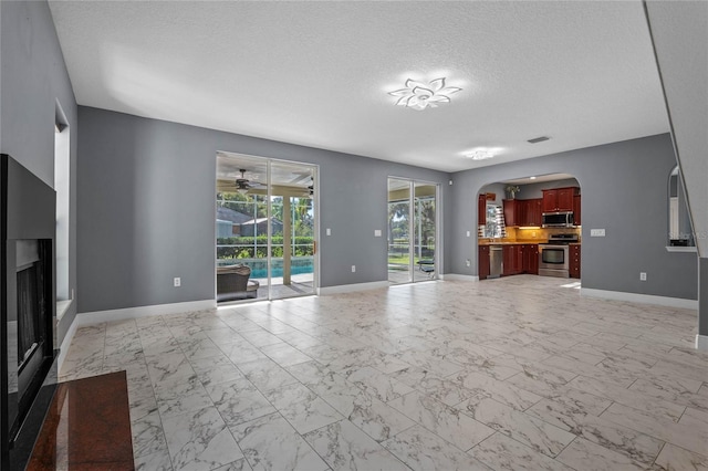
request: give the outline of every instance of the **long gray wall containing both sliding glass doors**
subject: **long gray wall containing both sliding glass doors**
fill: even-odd
[[[214,299],[217,150],[320,166],[322,286],[387,280],[388,176],[450,206],[445,172],[83,106],[79,122],[79,312]]]

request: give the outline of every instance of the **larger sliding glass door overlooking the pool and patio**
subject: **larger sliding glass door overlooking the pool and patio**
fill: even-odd
[[[312,165],[217,154],[218,302],[314,293],[315,179]]]

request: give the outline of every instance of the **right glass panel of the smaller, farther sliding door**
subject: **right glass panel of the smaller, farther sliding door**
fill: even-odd
[[[413,281],[435,278],[436,190],[430,184],[414,182],[414,268]]]

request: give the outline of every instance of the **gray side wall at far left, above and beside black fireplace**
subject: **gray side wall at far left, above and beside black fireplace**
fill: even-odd
[[[1,150],[54,186],[54,113],[61,104],[71,129],[71,180],[76,181],[76,101],[46,2],[0,2],[2,45]],[[76,287],[76,191],[70,191],[69,287]],[[79,292],[77,292],[79,295]],[[75,304],[58,327],[59,342]]]

